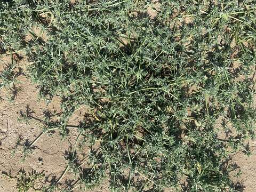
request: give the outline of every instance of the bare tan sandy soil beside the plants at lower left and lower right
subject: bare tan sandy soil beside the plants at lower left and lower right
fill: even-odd
[[[2,60],[0,60],[0,71],[8,62],[10,62],[10,57],[2,57]],[[66,150],[74,145],[77,137],[76,130],[70,130],[69,137],[65,139],[61,139],[58,133],[51,135],[51,137],[43,135],[35,143],[33,153],[29,154],[24,162],[21,161],[24,142],[26,140],[31,142],[42,132],[42,127],[36,121],[30,124],[18,121],[21,111],[25,112],[29,108],[33,111],[31,115],[38,119],[43,118],[46,109],[52,111],[55,116],[58,116],[58,113],[61,111],[58,99],[48,106],[44,101],[38,100],[38,89],[26,78],[26,65],[26,59],[18,61],[18,66],[22,68],[22,73],[18,76],[21,83],[17,86],[21,91],[18,92],[14,102],[9,102],[5,97],[6,91],[0,90],[0,192],[18,191],[17,175],[22,170],[27,175],[33,171],[45,174],[45,177],[36,180],[36,188],[51,185],[51,183],[58,180],[65,170],[67,166],[67,161],[65,160]],[[83,109],[71,118],[70,123],[76,125],[81,115],[83,115]],[[12,155],[17,138],[21,138],[21,143],[17,147],[15,154]],[[241,177],[236,178],[233,175],[231,177],[236,186],[245,192],[256,190],[256,142],[250,141],[250,146],[250,157],[245,156],[241,152],[236,154],[230,161],[230,163],[236,164],[238,170],[240,169],[242,172]],[[80,151],[81,154],[86,154],[89,149],[85,148],[83,150]],[[75,181],[75,178],[68,173],[60,181],[60,186],[73,185]],[[76,188],[73,191],[81,190]],[[93,191],[109,191],[108,185],[102,185],[102,187]]]

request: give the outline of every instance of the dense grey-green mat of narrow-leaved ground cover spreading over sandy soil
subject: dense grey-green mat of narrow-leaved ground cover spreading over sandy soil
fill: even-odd
[[[39,96],[61,98],[60,118],[44,119],[25,156],[53,130],[79,133],[44,190],[68,171],[81,190],[103,180],[113,191],[237,190],[227,161],[241,147],[250,155],[243,141],[254,137],[255,4],[2,1],[1,52],[25,52]],[[69,126],[81,108],[84,121]]]

